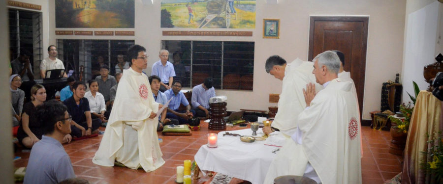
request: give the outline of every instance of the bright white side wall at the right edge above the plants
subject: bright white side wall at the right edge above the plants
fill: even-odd
[[[442,31],[443,4],[437,0],[408,0],[403,57],[403,102],[410,102],[413,95],[412,81],[421,90],[428,83],[423,78],[423,67],[436,62],[435,56],[443,53]],[[408,92],[408,93],[407,93]]]

